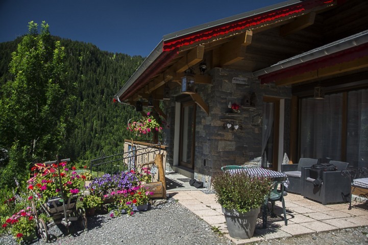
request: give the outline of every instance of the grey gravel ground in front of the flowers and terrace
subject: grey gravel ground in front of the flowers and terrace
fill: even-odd
[[[71,234],[64,226],[48,230],[51,242],[32,244],[232,244],[174,199],[134,216],[110,218],[108,214],[88,217],[88,231],[79,222],[71,225]],[[310,234],[254,244],[368,244],[368,227]],[[1,236],[0,244],[16,244],[11,236]]]

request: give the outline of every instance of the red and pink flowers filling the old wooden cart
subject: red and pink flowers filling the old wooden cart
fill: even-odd
[[[76,167],[67,167],[66,162],[59,163],[59,167],[64,198],[70,198],[71,195],[78,194],[81,183],[86,177],[83,174],[79,175]],[[38,163],[31,170],[34,174],[27,182],[29,184],[28,189],[32,190],[42,203],[53,197],[61,196],[57,164],[45,166],[44,164]]]

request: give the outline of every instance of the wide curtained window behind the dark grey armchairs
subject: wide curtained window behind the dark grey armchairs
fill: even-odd
[[[300,103],[300,157],[368,166],[368,89]]]

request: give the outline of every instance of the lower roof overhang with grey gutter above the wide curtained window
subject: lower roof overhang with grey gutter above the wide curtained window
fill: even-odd
[[[368,30],[253,72],[262,83],[290,85],[368,67]]]

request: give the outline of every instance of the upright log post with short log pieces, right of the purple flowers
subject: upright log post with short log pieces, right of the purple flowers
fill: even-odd
[[[148,188],[149,191],[153,192],[151,198],[162,198],[166,199],[166,180],[165,180],[165,170],[163,168],[163,154],[157,154],[155,156],[155,160],[150,161],[148,163],[143,163],[140,167],[154,164],[158,168],[159,181],[151,182],[145,184],[145,187]]]

